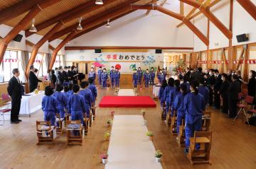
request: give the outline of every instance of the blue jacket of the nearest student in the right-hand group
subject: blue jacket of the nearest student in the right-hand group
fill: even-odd
[[[203,101],[203,95],[194,92],[188,93],[184,98],[184,108],[187,124],[194,124],[198,119],[202,119],[203,111],[206,105]]]

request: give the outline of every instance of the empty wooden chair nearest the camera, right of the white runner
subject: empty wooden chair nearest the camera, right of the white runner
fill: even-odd
[[[210,148],[212,143],[212,132],[194,132],[194,136],[190,138],[190,146],[188,148],[188,160],[191,165],[194,163],[210,163]],[[200,144],[200,148],[196,148],[196,144]]]

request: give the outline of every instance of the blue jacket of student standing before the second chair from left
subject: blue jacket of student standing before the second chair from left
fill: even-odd
[[[85,98],[82,95],[73,94],[68,99],[68,112],[86,112]]]

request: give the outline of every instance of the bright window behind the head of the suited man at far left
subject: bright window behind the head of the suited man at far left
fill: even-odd
[[[25,76],[21,66],[21,51],[7,49],[0,65],[0,83],[9,81],[13,76],[12,70],[15,68],[19,69],[21,73],[19,78],[24,82]]]

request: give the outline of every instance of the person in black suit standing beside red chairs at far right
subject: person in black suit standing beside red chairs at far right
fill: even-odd
[[[234,74],[232,76],[232,82],[228,86],[228,110],[230,118],[237,115],[237,103],[238,103],[238,93],[240,93],[240,81],[238,81],[238,75]]]

